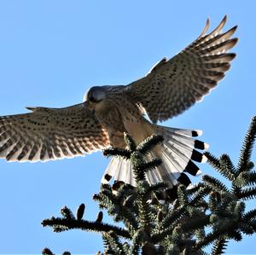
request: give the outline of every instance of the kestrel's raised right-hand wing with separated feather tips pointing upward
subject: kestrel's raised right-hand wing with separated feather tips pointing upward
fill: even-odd
[[[212,32],[209,20],[199,38],[172,59],[163,59],[144,77],[126,86],[134,101],[153,121],[163,121],[183,113],[224,78],[235,54],[226,53],[237,38],[231,38],[236,26],[221,30],[226,16]]]

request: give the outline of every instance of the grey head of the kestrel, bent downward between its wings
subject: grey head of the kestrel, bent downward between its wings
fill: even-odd
[[[95,109],[96,105],[106,99],[107,91],[104,86],[91,87],[84,95],[84,101],[87,101],[90,110]]]

